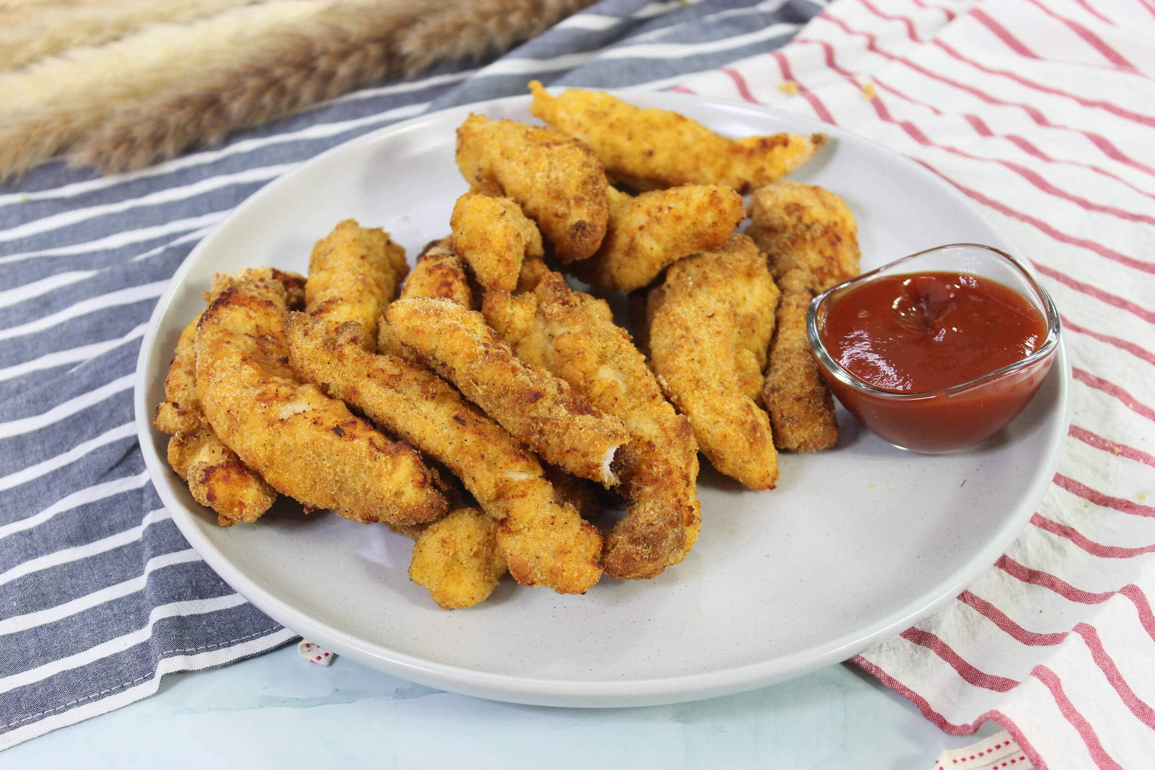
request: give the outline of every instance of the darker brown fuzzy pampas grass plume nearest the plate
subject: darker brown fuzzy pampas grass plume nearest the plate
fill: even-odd
[[[341,3],[323,21],[267,40],[238,63],[118,110],[69,159],[106,173],[140,169],[388,76],[502,53],[591,2],[379,0],[355,13]]]

